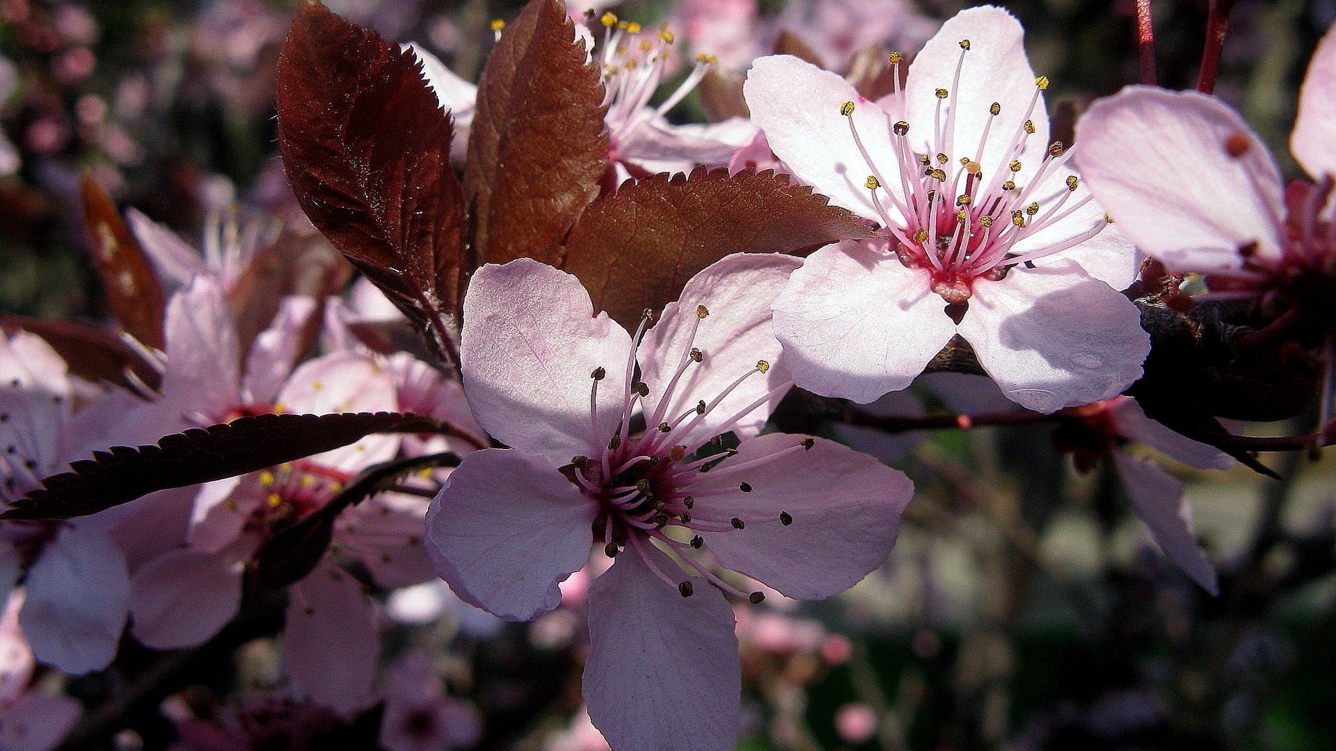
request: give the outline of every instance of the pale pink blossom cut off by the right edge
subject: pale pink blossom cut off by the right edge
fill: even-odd
[[[1129,86],[1077,126],[1090,190],[1142,251],[1206,275],[1206,297],[1287,315],[1327,362],[1323,422],[1336,370],[1336,31],[1317,45],[1299,92],[1289,148],[1315,183],[1284,186],[1257,134],[1222,102]]]

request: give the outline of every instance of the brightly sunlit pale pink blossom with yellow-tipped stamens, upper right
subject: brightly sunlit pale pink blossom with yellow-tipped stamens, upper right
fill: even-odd
[[[744,92],[775,154],[880,226],[814,253],[775,301],[799,386],[870,402],[955,335],[1039,412],[1141,376],[1149,337],[1117,291],[1134,251],[1069,168],[1073,150],[1049,143],[1046,86],[994,7],[949,20],[878,102],[796,57],[756,60]]]

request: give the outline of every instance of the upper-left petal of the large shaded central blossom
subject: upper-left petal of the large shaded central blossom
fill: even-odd
[[[474,417],[509,446],[562,466],[592,456],[616,429],[631,335],[593,314],[589,293],[564,271],[521,258],[486,265],[464,298],[464,393]],[[596,367],[599,428],[591,429]]]

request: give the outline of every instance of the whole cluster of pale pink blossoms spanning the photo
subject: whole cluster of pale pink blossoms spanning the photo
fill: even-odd
[[[110,442],[152,444],[242,417],[414,413],[449,429],[365,436],[75,520],[0,522],[0,734],[20,715],[47,718],[32,747],[51,747],[75,722],[68,699],[37,686],[36,663],[103,669],[127,629],[154,649],[218,637],[244,611],[271,541],[334,508],[369,468],[450,454],[458,466],[399,477],[338,514],[319,561],[285,585],[285,696],[219,722],[178,708],[183,747],[318,735],[377,703],[386,748],[468,746],[478,719],[428,657],[410,649],[377,683],[382,616],[371,595],[441,579],[469,605],[530,620],[595,571],[582,593],[593,726],[619,751],[731,747],[739,633],[760,641],[763,617],[735,607],[855,585],[887,560],[914,493],[903,472],[855,450],[859,438],[768,432],[772,412],[795,388],[875,402],[933,370],[945,350],[967,353],[1007,409],[1063,420],[1058,442],[1078,469],[1110,461],[1154,541],[1217,589],[1182,485],[1122,448],[1140,441],[1198,468],[1234,460],[1124,396],[1152,349],[1125,290],[1145,254],[1204,275],[1206,299],[1269,311],[1276,329],[1323,350],[1327,424],[1336,37],[1313,59],[1292,142],[1316,183],[1283,188],[1257,136],[1205,95],[1133,87],[1096,103],[1075,144],[1050,140],[1049,82],[1030,67],[1019,23],[995,7],[947,20],[912,64],[890,53],[879,98],[851,80],[850,40],[823,49],[842,72],[748,53],[735,65],[749,64],[749,118],[708,126],[668,114],[716,57],[700,53],[683,69],[668,27],[581,17],[588,27],[565,28],[601,75],[608,194],[625,180],[751,159],[855,214],[866,237],[806,259],[725,255],[661,311],[647,309],[635,330],[597,311],[564,270],[532,258],[481,265],[452,342],[456,380],[381,346],[375,325],[398,313],[365,279],[343,297],[267,301],[273,315],[250,331],[238,306],[257,247],[273,238],[224,227],[200,255],[131,211],[170,294],[162,343],[126,335],[146,370],[118,386],[76,374],[33,333],[0,335],[5,506]],[[414,52],[453,114],[460,163],[464,134],[481,127],[477,90]],[[675,73],[680,86],[651,104]],[[1148,127],[1160,136],[1128,148]],[[839,639],[818,644],[804,649],[830,664],[848,657]],[[863,715],[850,711],[848,738],[871,735],[860,728],[875,719]]]

